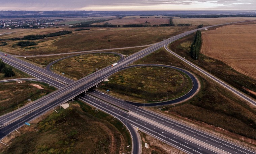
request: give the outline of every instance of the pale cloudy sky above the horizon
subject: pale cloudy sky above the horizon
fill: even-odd
[[[0,10],[256,10],[256,0],[1,0]]]

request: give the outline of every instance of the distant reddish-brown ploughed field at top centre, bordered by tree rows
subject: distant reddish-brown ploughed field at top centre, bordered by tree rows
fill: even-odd
[[[154,24],[165,24],[165,23],[170,23],[169,18],[155,18],[155,17],[150,17],[150,18],[123,18],[123,19],[113,19],[113,20],[108,20],[105,22],[114,24],[114,25],[124,25],[124,24],[146,24],[145,22],[148,22],[147,24],[149,25],[154,25]],[[105,22],[101,22],[104,24]],[[97,23],[98,24],[98,23]]]

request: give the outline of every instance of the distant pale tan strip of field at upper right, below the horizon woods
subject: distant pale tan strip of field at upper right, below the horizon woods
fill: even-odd
[[[172,21],[175,25],[178,23],[191,23],[192,25],[215,25],[221,23],[230,23],[245,20],[255,20],[255,17],[225,17],[225,18],[173,18]]]

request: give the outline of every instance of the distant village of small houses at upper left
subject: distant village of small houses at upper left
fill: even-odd
[[[60,21],[63,21],[63,19],[0,20],[0,28],[46,28],[65,25],[63,23],[59,23]]]

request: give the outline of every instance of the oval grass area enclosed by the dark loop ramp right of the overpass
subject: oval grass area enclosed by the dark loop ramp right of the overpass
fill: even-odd
[[[168,100],[178,98],[184,95],[184,90],[188,92],[192,88],[188,76],[162,67],[129,68],[108,79],[101,85],[101,90],[111,89],[115,96],[142,103],[166,101],[167,96]]]

